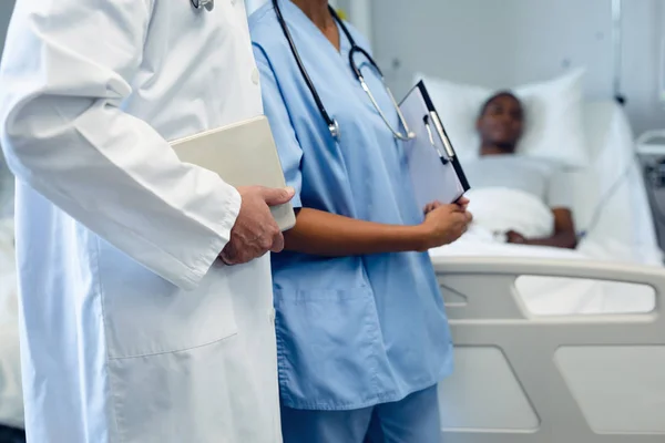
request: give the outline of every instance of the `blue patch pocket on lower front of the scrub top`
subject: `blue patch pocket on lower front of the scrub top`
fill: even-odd
[[[385,361],[371,289],[277,290],[275,306],[287,406],[344,406],[371,396]]]

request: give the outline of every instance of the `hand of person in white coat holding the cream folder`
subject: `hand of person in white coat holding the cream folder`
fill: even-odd
[[[293,188],[273,189],[263,186],[238,187],[243,199],[241,212],[231,229],[231,239],[219,254],[226,265],[241,265],[267,251],[284,249],[284,237],[270,214],[270,206],[288,203]]]

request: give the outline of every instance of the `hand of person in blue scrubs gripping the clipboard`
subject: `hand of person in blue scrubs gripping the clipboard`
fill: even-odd
[[[424,250],[448,245],[462,236],[471,223],[471,213],[457,203],[438,205],[427,213],[421,227],[424,230]]]

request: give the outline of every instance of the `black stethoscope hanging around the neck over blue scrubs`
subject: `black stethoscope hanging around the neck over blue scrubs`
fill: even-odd
[[[194,0],[192,0],[192,1],[194,1]],[[321,102],[321,97],[319,96],[318,92],[316,91],[316,87],[314,86],[314,83],[311,82],[309,74],[307,74],[307,70],[305,69],[305,65],[303,64],[303,60],[300,60],[300,55],[298,54],[296,44],[294,43],[290,32],[288,31],[286,21],[284,20],[284,17],[282,16],[282,10],[279,9],[278,0],[273,0],[273,6],[275,7],[275,12],[277,14],[277,20],[279,21],[279,25],[282,27],[282,30],[284,31],[284,37],[286,37],[286,40],[288,41],[288,44],[294,54],[294,58],[296,59],[296,63],[298,64],[298,69],[300,70],[300,74],[303,75],[303,80],[305,80],[305,83],[307,83],[307,87],[311,92],[311,96],[314,97],[314,101],[316,102],[316,106],[318,107],[319,113],[321,114],[321,116],[326,121],[326,124],[328,125],[330,135],[332,135],[332,138],[338,140],[339,138],[339,123],[337,123],[337,120],[330,117],[330,115],[326,111],[326,106],[324,106],[324,103]],[[335,12],[335,10],[332,8],[330,8],[330,6],[328,6],[328,9],[330,10],[330,13],[332,14],[332,18],[335,19],[335,21],[337,23],[339,23],[339,28],[341,28],[344,34],[346,35],[346,38],[348,39],[348,41],[351,45],[351,50],[349,51],[349,64],[351,65],[351,69],[354,70],[354,73],[356,74],[356,79],[358,79],[358,81],[360,82],[360,86],[369,96],[371,104],[374,105],[374,107],[377,110],[377,112],[383,120],[383,123],[386,123],[386,126],[388,126],[388,128],[390,130],[390,132],[392,133],[392,135],[396,138],[407,141],[407,140],[411,140],[411,138],[416,137],[416,135],[409,130],[409,125],[407,124],[407,121],[406,121],[405,116],[402,115],[401,110],[399,109],[399,105],[395,101],[395,96],[392,95],[390,87],[388,87],[388,85],[386,84],[386,81],[383,80],[383,73],[381,72],[381,70],[379,69],[377,63],[374,61],[374,59],[369,55],[369,53],[366,50],[364,50],[362,48],[360,48],[356,44],[356,41],[351,37],[351,33],[349,32],[347,27],[344,24],[344,22],[339,18],[339,16],[337,16],[337,12]],[[395,106],[395,110],[397,111],[397,115],[399,116],[399,121],[400,121],[402,127],[405,128],[406,135],[405,135],[405,133],[395,131],[392,128],[392,126],[388,122],[388,119],[386,119],[386,115],[379,107],[379,104],[377,103],[371,91],[369,90],[369,86],[367,85],[367,82],[365,81],[365,78],[362,76],[360,69],[354,61],[354,55],[358,52],[361,53],[362,55],[365,55],[367,61],[369,61],[369,63],[374,66],[374,69],[377,71],[377,73],[381,78],[383,87],[386,89],[388,96],[390,96],[390,100],[392,101],[392,105]]]

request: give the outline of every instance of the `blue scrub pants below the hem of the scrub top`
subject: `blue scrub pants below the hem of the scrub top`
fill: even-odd
[[[284,443],[440,443],[437,387],[352,411],[282,406]]]

